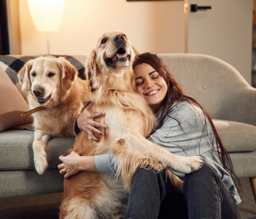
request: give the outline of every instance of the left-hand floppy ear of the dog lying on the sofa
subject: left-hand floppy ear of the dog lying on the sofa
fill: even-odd
[[[32,68],[32,61],[28,61],[18,73],[19,81],[22,84],[22,91],[29,91],[31,88],[30,71]]]

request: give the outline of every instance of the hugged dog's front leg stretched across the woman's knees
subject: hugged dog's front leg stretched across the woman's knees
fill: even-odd
[[[125,189],[131,187],[133,174],[138,167],[150,165],[155,170],[173,169],[182,173],[191,173],[202,165],[199,156],[182,157],[155,145],[140,134],[131,133],[119,140],[111,148],[118,158],[117,174],[121,174]]]

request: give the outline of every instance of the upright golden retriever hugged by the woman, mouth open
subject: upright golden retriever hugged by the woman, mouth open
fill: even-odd
[[[64,180],[61,219],[113,219],[125,216],[128,192],[138,167],[151,165],[191,173],[202,166],[200,157],[180,157],[146,138],[156,127],[156,119],[143,96],[135,92],[132,64],[136,50],[120,31],[99,38],[86,61],[86,78],[92,88],[90,112],[105,112],[98,122],[107,125],[95,133],[99,142],[86,132],[76,139],[70,151],[82,156],[112,152],[118,159],[116,176],[80,171]],[[116,177],[116,178],[115,178]]]

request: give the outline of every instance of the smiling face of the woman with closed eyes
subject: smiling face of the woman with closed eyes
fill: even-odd
[[[143,95],[148,104],[157,113],[161,109],[163,99],[167,93],[165,79],[146,63],[136,65],[133,70],[136,74],[136,92]]]

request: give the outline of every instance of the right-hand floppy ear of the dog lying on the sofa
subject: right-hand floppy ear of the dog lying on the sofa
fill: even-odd
[[[78,70],[64,57],[58,58],[60,68],[60,84],[65,90],[69,90],[78,75]]]

